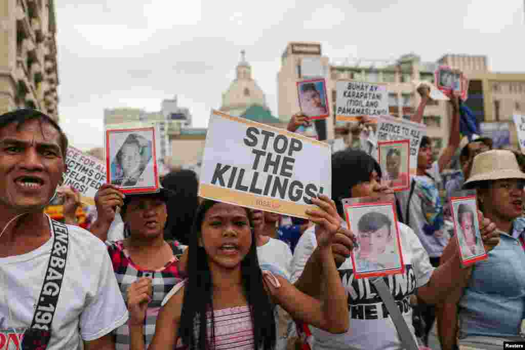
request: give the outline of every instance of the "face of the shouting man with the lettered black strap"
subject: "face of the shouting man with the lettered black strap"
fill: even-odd
[[[0,129],[0,206],[34,212],[49,203],[64,173],[60,133],[37,119],[17,125]]]

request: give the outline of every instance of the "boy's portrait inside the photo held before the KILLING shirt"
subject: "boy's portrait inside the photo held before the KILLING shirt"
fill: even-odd
[[[393,218],[377,211],[365,213],[358,221],[358,272],[400,268]]]

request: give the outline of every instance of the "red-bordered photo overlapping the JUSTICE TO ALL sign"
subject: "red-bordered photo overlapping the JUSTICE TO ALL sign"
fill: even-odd
[[[377,142],[377,157],[383,173],[394,192],[410,189],[410,141]]]

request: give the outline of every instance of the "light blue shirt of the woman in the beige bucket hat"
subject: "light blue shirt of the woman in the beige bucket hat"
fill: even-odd
[[[513,235],[500,232],[487,260],[477,262],[459,301],[459,337],[519,336],[525,317],[525,251],[518,237],[525,219],[513,223]]]

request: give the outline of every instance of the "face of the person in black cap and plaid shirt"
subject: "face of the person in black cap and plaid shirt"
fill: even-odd
[[[157,196],[141,196],[128,204],[124,222],[131,235],[143,239],[163,235],[167,219],[166,203]]]

